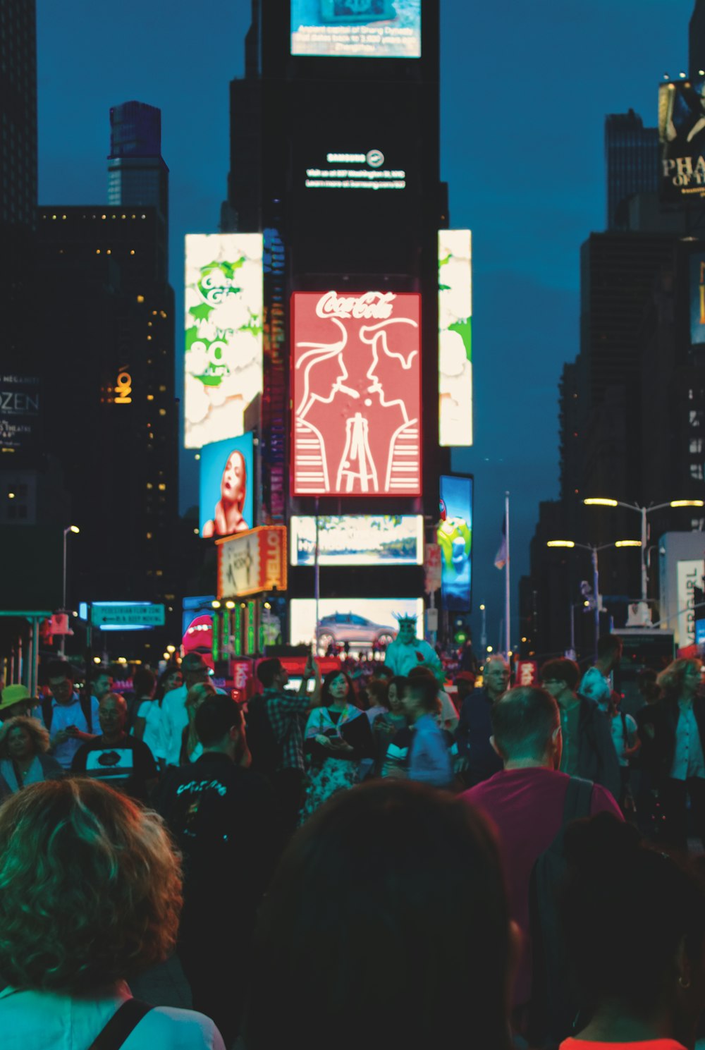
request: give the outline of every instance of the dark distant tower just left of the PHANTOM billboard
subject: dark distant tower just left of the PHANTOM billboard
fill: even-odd
[[[610,113],[604,121],[607,173],[607,230],[628,227],[628,201],[637,193],[655,193],[659,185],[659,130],[645,128],[641,117]]]

